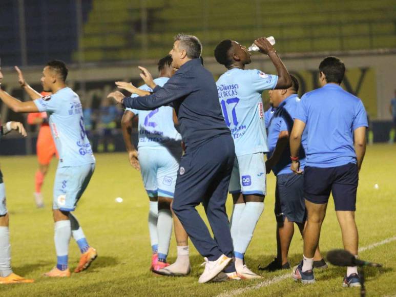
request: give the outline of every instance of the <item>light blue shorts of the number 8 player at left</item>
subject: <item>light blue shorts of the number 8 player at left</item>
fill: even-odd
[[[94,173],[95,163],[58,167],[54,183],[53,209],[73,211]]]

